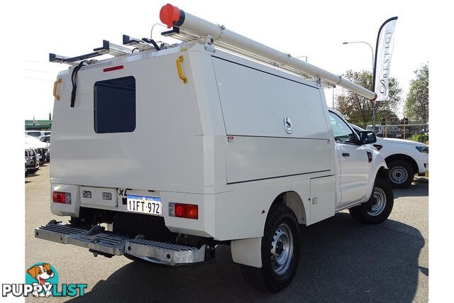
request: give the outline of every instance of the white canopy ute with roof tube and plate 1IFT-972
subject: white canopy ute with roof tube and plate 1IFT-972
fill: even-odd
[[[71,219],[35,237],[168,265],[230,244],[246,281],[277,292],[297,270],[298,224],[387,219],[375,134],[328,113],[321,84],[373,92],[170,4],[160,16],[183,43],[124,35],[140,51],[50,54],[72,65],[55,82],[50,167],[52,214]]]

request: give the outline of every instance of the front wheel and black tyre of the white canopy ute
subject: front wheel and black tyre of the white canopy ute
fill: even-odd
[[[372,209],[370,209],[372,204]],[[368,203],[348,209],[351,216],[358,222],[365,224],[382,223],[388,219],[394,205],[394,194],[391,184],[382,177],[377,177],[374,184],[374,192]]]

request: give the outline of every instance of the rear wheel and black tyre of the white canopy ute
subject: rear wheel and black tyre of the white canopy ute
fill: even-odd
[[[241,265],[251,287],[279,292],[292,282],[299,261],[299,228],[292,209],[274,205],[262,236],[262,268]]]

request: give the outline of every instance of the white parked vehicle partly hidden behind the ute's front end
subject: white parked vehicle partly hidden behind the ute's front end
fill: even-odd
[[[350,124],[359,133],[364,129]],[[383,155],[389,168],[389,180],[394,188],[406,188],[414,175],[428,172],[428,145],[416,141],[377,138],[375,148]]]

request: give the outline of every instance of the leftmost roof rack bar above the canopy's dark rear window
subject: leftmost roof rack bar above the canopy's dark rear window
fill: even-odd
[[[131,53],[132,50],[130,48],[125,48],[124,46],[110,43],[108,40],[102,40],[101,48],[94,48],[92,53],[79,55],[75,57],[66,57],[50,53],[49,62],[65,63],[68,65],[78,65],[79,62],[82,60],[87,60],[101,55],[113,55],[115,57],[120,57]]]

